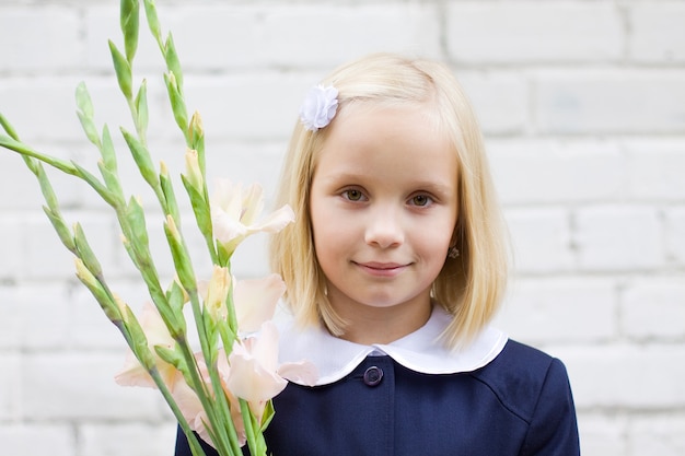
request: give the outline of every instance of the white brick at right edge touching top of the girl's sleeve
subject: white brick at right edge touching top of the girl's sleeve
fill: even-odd
[[[588,346],[549,348],[568,367],[580,409],[659,411],[685,405],[685,347]]]

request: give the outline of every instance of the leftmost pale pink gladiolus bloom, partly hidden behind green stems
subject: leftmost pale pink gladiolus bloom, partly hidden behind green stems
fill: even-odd
[[[140,326],[148,338],[148,347],[155,359],[156,369],[164,379],[164,384],[171,386],[176,375],[176,367],[159,358],[154,351],[154,347],[162,346],[172,349],[175,347],[175,341],[169,334],[169,329],[166,329],[166,325],[164,325],[164,320],[162,320],[162,316],[156,307],[150,302],[143,305],[142,314],[140,315]],[[148,371],[130,351],[124,361],[124,367],[115,375],[114,379],[121,386],[156,388]]]

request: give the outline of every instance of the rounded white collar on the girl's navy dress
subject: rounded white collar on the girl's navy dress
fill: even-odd
[[[439,340],[451,319],[446,311],[434,306],[426,325],[410,335],[387,344],[363,346],[336,338],[323,327],[298,329],[293,318],[285,316],[279,321],[279,359],[281,363],[311,361],[318,370],[316,385],[326,385],[352,372],[368,355],[386,354],[425,374],[473,372],[492,361],[507,343],[507,335],[488,326],[468,348],[451,351]]]

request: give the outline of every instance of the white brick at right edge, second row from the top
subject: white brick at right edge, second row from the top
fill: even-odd
[[[674,71],[550,71],[536,77],[534,110],[541,133],[683,133],[685,73]]]

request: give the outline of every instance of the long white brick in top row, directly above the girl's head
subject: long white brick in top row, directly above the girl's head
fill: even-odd
[[[211,62],[228,68],[236,63],[332,67],[381,50],[437,57],[437,20],[434,9],[420,3],[281,4],[240,10],[181,9],[170,26],[181,33],[188,31],[181,26],[188,21],[205,22],[209,26],[204,31],[213,32],[185,34],[185,43],[194,49],[186,55],[194,66]],[[225,31],[224,35],[217,37],[218,31]],[[212,49],[211,44],[217,42],[225,51]],[[237,47],[231,48],[231,44]]]

